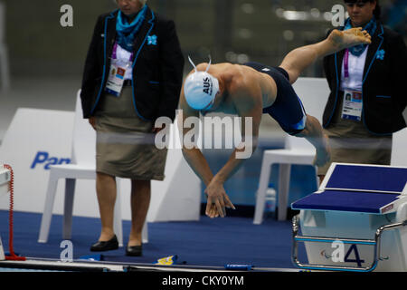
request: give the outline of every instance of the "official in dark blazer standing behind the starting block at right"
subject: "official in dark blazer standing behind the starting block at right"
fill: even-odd
[[[345,26],[363,27],[369,45],[357,45],[324,59],[331,90],[323,115],[332,162],[390,165],[392,134],[406,124],[407,49],[402,35],[380,21],[376,0],[345,0]],[[330,163],[318,169],[323,177]]]

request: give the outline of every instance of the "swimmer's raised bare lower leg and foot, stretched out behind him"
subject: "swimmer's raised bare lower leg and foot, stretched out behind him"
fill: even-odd
[[[322,42],[298,47],[291,51],[279,66],[289,73],[289,82],[292,84],[318,58],[339,52],[347,47],[371,42],[371,36],[366,31],[362,31],[360,27],[345,31],[335,29]]]

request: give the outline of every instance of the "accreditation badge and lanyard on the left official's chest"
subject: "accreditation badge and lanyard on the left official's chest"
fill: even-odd
[[[131,59],[133,58],[133,53],[131,53],[130,59],[126,62],[118,60],[116,53],[117,49],[118,43],[115,43],[110,64],[109,78],[108,82],[106,83],[106,92],[119,97],[121,90],[123,89],[125,74],[128,69],[131,69]]]

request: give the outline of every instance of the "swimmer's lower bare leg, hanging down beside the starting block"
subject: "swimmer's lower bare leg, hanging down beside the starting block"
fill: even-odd
[[[317,121],[317,118],[307,115],[306,127],[295,135],[296,137],[304,137],[317,150],[314,160],[314,165],[323,166],[331,159],[331,150],[328,144],[327,135],[324,134],[322,126]]]

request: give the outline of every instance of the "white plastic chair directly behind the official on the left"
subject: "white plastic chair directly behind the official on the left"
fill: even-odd
[[[80,103],[80,91],[77,94],[75,108],[75,123],[72,136],[71,164],[50,166],[50,177],[45,198],[43,218],[41,221],[39,243],[46,243],[50,231],[52,208],[54,204],[56,189],[59,179],[65,179],[65,202],[63,209],[63,231],[62,238],[71,238],[72,208],[75,193],[76,179],[96,179],[96,132],[91,128],[89,122],[82,118]],[[120,206],[120,183],[117,179],[117,198],[114,209],[114,231],[118,237],[118,244],[123,246],[123,227]],[[147,222],[142,232],[143,243],[148,242]]]

